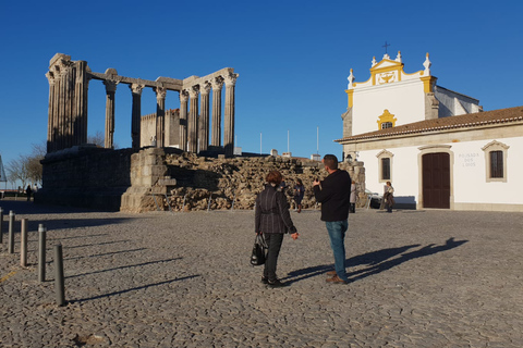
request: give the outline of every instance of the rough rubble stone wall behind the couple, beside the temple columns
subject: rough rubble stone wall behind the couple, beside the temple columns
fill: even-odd
[[[147,149],[133,154],[132,187],[122,198],[123,211],[254,209],[268,172],[282,173],[291,207],[293,186],[305,186],[304,209],[316,207],[313,181],[327,172],[321,162],[282,157],[205,158],[168,149]],[[169,150],[168,150],[169,151]],[[340,163],[356,182],[358,206],[365,203],[365,170],[362,162]],[[210,206],[209,206],[210,198]],[[232,207],[234,204],[234,207]]]

